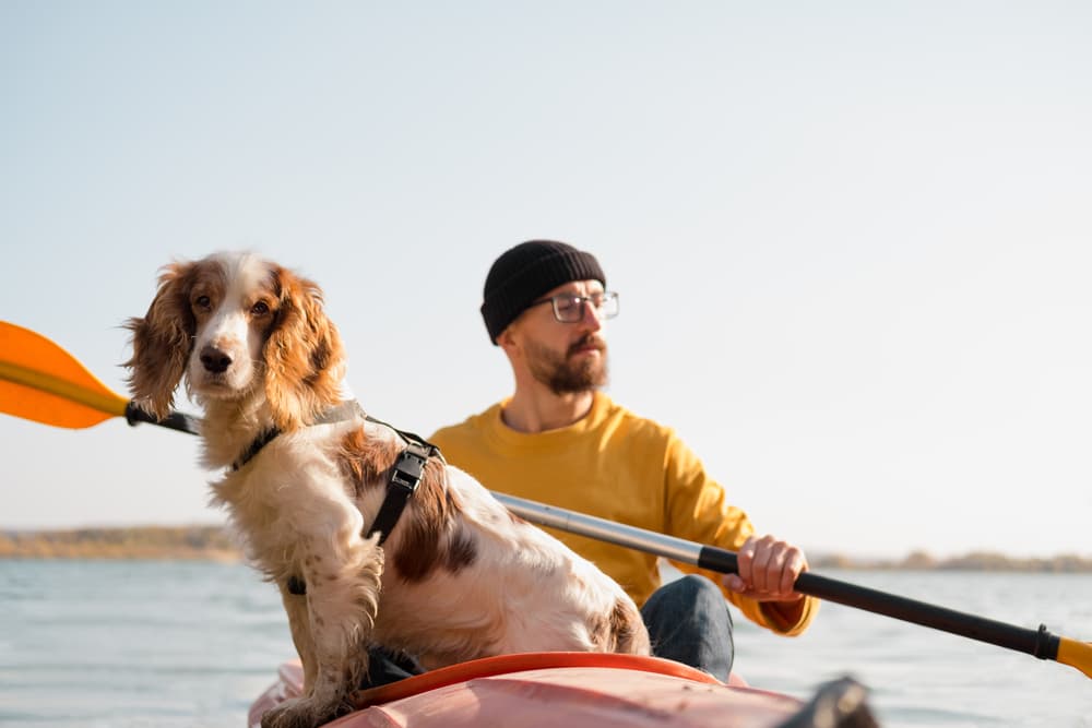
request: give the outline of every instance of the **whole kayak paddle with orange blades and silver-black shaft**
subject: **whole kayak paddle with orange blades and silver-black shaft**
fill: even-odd
[[[198,432],[199,420],[173,413],[155,421],[123,396],[95,379],[72,355],[48,338],[0,321],[0,411],[46,425],[84,428],[109,417],[126,417],[130,425],[152,422],[183,432]],[[722,574],[734,574],[736,554],[713,546],[634,528],[583,513],[492,493],[527,521],[618,546],[645,551]],[[905,622],[950,632],[999,647],[1053,659],[1092,678],[1092,643],[1038,630],[1006,624],[906,597],[856,586],[805,572],[794,585],[800,594]]]

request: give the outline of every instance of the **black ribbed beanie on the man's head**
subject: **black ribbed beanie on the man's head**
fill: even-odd
[[[591,253],[555,240],[527,240],[498,258],[485,279],[482,318],[489,341],[497,337],[515,317],[539,296],[571,281],[607,278]]]

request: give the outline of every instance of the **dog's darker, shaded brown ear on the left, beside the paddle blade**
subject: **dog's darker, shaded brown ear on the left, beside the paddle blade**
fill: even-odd
[[[193,263],[171,263],[161,271],[159,288],[143,319],[129,319],[133,355],[129,391],[133,402],[158,419],[170,414],[175,390],[186,371],[197,322],[190,309],[189,288]]]

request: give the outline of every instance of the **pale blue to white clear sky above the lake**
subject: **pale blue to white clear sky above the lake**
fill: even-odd
[[[565,240],[620,295],[608,394],[760,532],[1092,556],[1089,37],[1058,1],[3,2],[0,320],[124,393],[158,268],[253,250],[426,434],[512,391],[490,263]],[[190,435],[0,415],[0,527],[224,521]]]

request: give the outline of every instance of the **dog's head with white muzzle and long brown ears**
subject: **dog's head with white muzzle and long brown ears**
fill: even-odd
[[[129,386],[166,417],[185,378],[201,402],[265,397],[292,430],[340,398],[344,349],[319,287],[251,253],[175,262],[142,319],[130,319]]]

